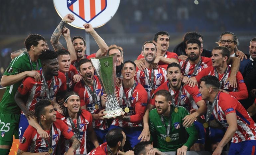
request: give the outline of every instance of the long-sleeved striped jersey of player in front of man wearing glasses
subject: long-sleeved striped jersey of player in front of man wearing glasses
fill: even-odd
[[[197,80],[197,83],[200,82],[200,79],[203,77],[203,76],[206,76],[206,75],[212,75],[212,76],[215,76],[215,72],[214,72],[214,67],[213,66],[210,66],[208,68],[205,68],[203,69],[197,76],[195,76],[196,80]],[[221,89],[224,89],[226,91],[229,92],[230,95],[232,95],[233,97],[235,97],[237,100],[241,100],[241,99],[246,99],[248,97],[248,91],[247,91],[247,87],[244,83],[244,78],[242,76],[242,74],[238,71],[236,73],[236,83],[237,83],[237,89],[234,89],[233,87],[227,87],[227,85],[229,84],[229,82],[227,82],[226,84],[225,81],[227,80],[227,78],[230,76],[230,66],[228,66],[228,72],[227,72],[227,75],[225,77],[224,74],[218,74],[219,75],[219,81],[223,79],[222,81],[222,87]],[[238,91],[237,91],[238,90]]]

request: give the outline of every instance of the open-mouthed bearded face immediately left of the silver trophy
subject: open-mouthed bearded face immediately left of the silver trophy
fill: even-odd
[[[94,69],[92,67],[91,62],[86,62],[86,63],[81,64],[79,73],[82,76],[82,78],[86,84],[92,83]]]

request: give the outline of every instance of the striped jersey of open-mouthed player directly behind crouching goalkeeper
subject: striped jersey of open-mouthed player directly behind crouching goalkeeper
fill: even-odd
[[[178,103],[179,98],[179,91],[180,89],[174,91],[171,88],[169,88],[169,81],[163,83],[161,86],[157,88],[157,90],[154,92],[158,92],[159,90],[167,90],[171,93],[172,97],[174,98],[175,104],[185,107],[188,111],[195,108],[198,109],[196,102],[202,100],[202,95],[199,93],[199,90],[197,87],[189,87],[188,85],[183,86],[182,92],[181,92],[181,101]],[[156,106],[155,104],[155,96],[149,100],[149,104],[152,104]]]

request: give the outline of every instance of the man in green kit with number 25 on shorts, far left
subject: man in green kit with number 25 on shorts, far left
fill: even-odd
[[[36,81],[41,81],[37,70],[42,68],[42,65],[38,57],[41,52],[46,51],[46,41],[41,35],[30,34],[24,43],[28,52],[24,52],[14,58],[1,79],[1,86],[6,87],[0,102],[1,155],[9,154],[13,135],[18,138],[21,111],[14,100],[18,87],[25,77],[34,77]]]

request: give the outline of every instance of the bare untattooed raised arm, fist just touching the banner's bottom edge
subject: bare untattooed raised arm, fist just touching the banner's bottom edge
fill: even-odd
[[[98,35],[98,33],[93,29],[91,24],[84,24],[83,27],[87,33],[90,33],[91,36],[96,41],[99,46],[99,50],[96,52],[96,57],[105,56],[108,51],[108,46],[105,41]]]

